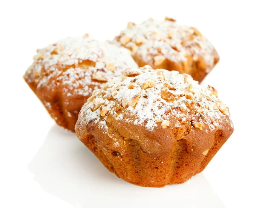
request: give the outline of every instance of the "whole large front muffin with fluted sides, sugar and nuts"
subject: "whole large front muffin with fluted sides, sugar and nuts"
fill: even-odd
[[[109,171],[150,187],[200,173],[232,133],[215,88],[150,66],[129,68],[95,90],[76,123],[78,138]]]

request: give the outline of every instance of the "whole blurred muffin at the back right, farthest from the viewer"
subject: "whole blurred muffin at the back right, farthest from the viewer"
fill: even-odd
[[[140,67],[176,70],[190,74],[199,83],[219,60],[215,48],[196,28],[178,25],[167,17],[139,25],[130,22],[113,42],[131,50]]]

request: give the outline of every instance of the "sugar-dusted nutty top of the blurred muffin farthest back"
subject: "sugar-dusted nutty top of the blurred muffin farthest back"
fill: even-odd
[[[196,28],[178,25],[168,17],[164,21],[150,18],[139,25],[130,22],[114,42],[129,48],[133,56],[140,56],[145,63],[154,58],[155,66],[165,59],[184,62],[189,55],[193,60],[203,58],[210,70],[218,59],[215,48]]]

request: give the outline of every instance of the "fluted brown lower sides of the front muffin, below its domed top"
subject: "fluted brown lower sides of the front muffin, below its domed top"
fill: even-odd
[[[126,140],[121,156],[116,151],[100,148],[92,135],[80,138],[109,171],[127,182],[145,187],[186,182],[204,170],[227,139],[222,130],[217,130],[213,145],[206,155],[195,154],[184,139],[175,141],[172,151],[163,155],[147,153],[136,140]]]

